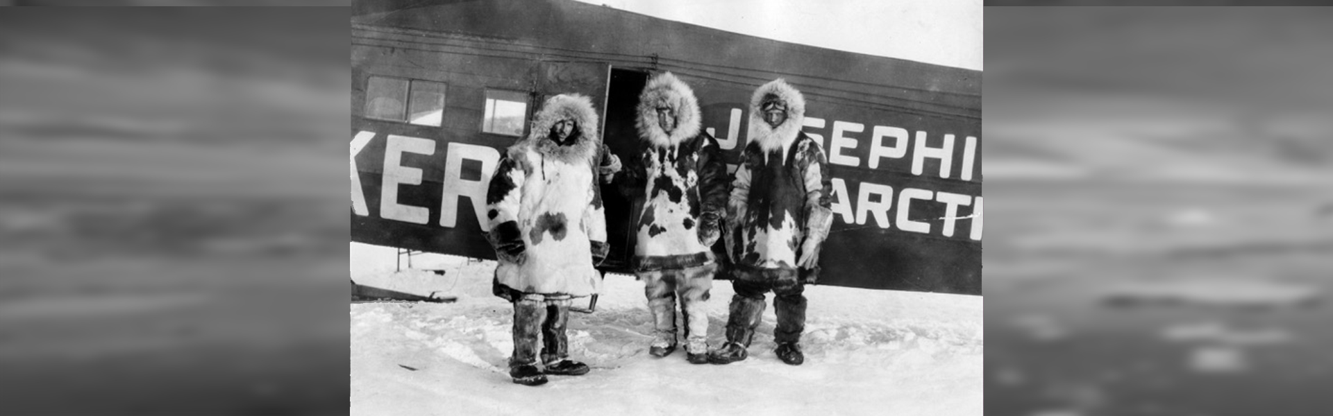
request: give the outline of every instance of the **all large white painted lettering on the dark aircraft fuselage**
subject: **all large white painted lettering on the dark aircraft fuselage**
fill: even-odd
[[[713,128],[708,128],[722,149],[736,149],[742,147],[741,117],[744,112],[732,108],[729,113],[726,135],[718,136]],[[861,123],[829,120],[820,117],[805,117],[805,133],[820,143],[833,165],[865,167],[870,169],[888,169],[893,164],[910,167],[897,171],[909,171],[916,176],[936,176],[941,179],[970,181],[976,168],[977,137],[966,136],[962,140],[960,163],[954,164],[956,135],[933,136],[930,139],[925,131],[908,131],[892,125],[866,125]],[[828,140],[821,132],[830,127]],[[869,133],[868,136],[865,133]],[[352,212],[360,216],[369,216],[360,177],[356,173],[356,155],[375,137],[375,132],[357,132],[352,139]],[[930,140],[928,140],[930,139]],[[399,188],[407,185],[421,185],[423,171],[401,164],[403,152],[432,156],[436,149],[436,140],[411,136],[388,135],[385,143],[383,183],[380,197],[380,217],[413,224],[427,224],[431,208],[408,205],[397,201]],[[910,156],[909,156],[909,152]],[[441,156],[435,156],[441,157]],[[461,197],[468,197],[479,221],[479,227],[485,223],[485,193],[500,160],[500,152],[492,147],[473,145],[463,143],[448,143],[444,157],[444,176],[439,177],[441,184],[440,200],[440,227],[457,227],[459,204]],[[862,164],[864,159],[864,164]],[[463,179],[464,160],[480,161],[480,177],[476,180]],[[938,161],[938,171],[926,172],[926,160]],[[960,169],[954,171],[954,167]],[[728,172],[734,172],[734,165],[728,165]],[[957,175],[954,175],[957,173]],[[921,189],[908,187],[893,187],[870,181],[848,183],[842,177],[833,177],[833,213],[841,223],[848,225],[873,224],[878,228],[896,228],[905,232],[933,233],[944,237],[954,237],[960,220],[970,220],[968,239],[981,240],[982,212],[981,197],[962,193],[944,192],[938,189]],[[850,192],[849,192],[850,191]],[[913,217],[913,204],[942,204],[942,217]],[[938,207],[938,205],[937,205]],[[972,207],[968,215],[958,215],[960,207]],[[920,208],[920,207],[918,207]],[[936,208],[937,209],[937,208]],[[929,209],[929,211],[936,211]],[[918,209],[918,212],[921,212]],[[942,223],[938,223],[941,221]],[[938,224],[938,227],[933,227]]]

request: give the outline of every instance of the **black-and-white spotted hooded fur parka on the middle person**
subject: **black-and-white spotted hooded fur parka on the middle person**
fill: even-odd
[[[670,108],[676,128],[668,133],[657,108]],[[712,264],[713,252],[701,235],[716,240],[726,213],[728,177],[717,140],[702,131],[693,89],[670,72],[648,80],[639,96],[639,137],[643,140],[635,184],[644,195],[635,223],[635,271],[681,269]]]

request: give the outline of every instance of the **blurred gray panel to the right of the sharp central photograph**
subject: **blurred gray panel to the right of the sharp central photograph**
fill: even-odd
[[[1329,413],[1333,9],[985,17],[986,415]]]

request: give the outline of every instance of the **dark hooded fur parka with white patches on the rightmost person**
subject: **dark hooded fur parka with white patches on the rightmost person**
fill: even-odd
[[[765,96],[786,103],[776,128],[762,120]],[[802,249],[818,249],[832,225],[832,185],[818,141],[801,132],[805,99],[782,80],[754,91],[749,105],[749,143],[728,200],[728,252],[741,280],[794,279],[813,283],[818,267],[798,271]]]

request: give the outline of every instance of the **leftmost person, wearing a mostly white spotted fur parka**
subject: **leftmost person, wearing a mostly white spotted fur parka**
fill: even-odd
[[[495,295],[513,303],[509,375],[519,384],[547,383],[544,373],[588,373],[587,364],[568,359],[565,323],[572,299],[601,289],[595,265],[607,256],[607,227],[597,125],[588,97],[553,96],[491,179],[487,240],[499,263]],[[539,347],[544,371],[536,367]]]

